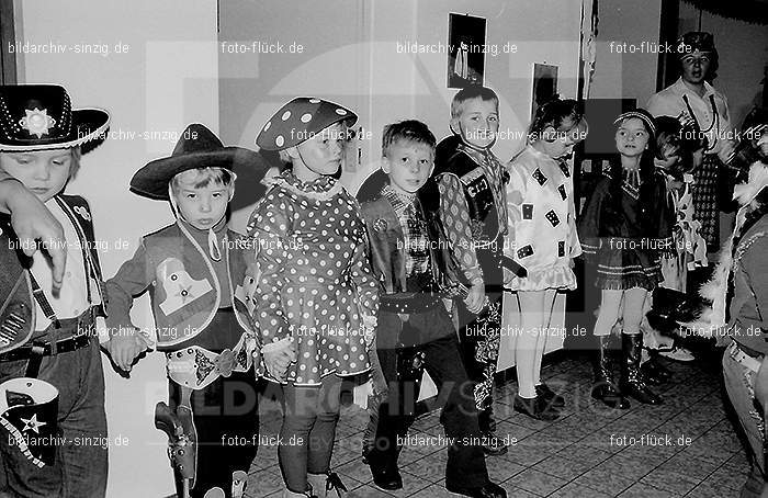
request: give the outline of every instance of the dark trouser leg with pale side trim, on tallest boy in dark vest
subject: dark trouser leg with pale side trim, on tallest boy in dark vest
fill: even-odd
[[[498,362],[501,335],[501,292],[488,292],[488,306],[478,315],[470,313],[463,302],[459,305],[459,340],[464,367],[475,382],[475,404],[481,410],[479,425],[483,432],[490,431],[494,375]]]

